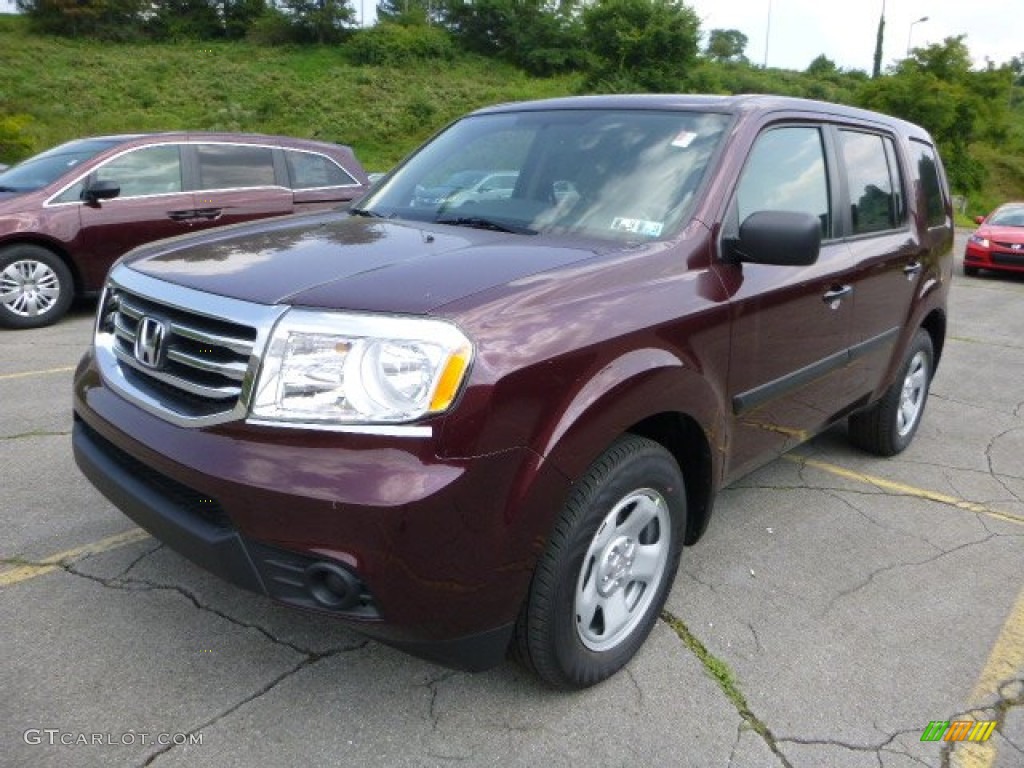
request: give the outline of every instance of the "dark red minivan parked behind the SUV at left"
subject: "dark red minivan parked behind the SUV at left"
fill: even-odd
[[[0,173],[0,326],[55,322],[135,246],[335,207],[368,184],[349,147],[285,136],[156,133],[61,144]]]

